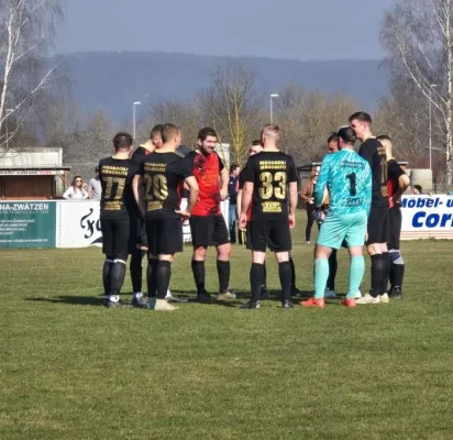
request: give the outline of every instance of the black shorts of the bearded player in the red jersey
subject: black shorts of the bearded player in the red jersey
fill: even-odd
[[[191,216],[189,224],[195,249],[230,243],[225,219],[221,213],[217,216]]]

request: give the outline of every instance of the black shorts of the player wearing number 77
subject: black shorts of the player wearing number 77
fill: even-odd
[[[128,258],[135,237],[131,237],[131,220],[129,217],[101,217],[102,252],[108,256]]]

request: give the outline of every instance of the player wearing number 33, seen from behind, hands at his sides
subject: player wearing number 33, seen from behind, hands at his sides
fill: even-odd
[[[265,125],[262,130],[263,151],[248,158],[244,172],[240,228],[248,229],[252,249],[250,272],[252,299],[242,306],[245,309],[261,307],[259,295],[264,284],[266,248],[275,252],[281,283],[281,307],[292,308],[291,302],[291,234],[296,226],[297,170],[292,157],[277,147],[278,127]],[[289,210],[287,188],[289,186]],[[252,202],[252,217],[247,210]],[[248,224],[247,224],[248,223]]]

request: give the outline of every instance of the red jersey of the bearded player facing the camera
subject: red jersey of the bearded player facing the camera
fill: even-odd
[[[192,216],[220,215],[220,172],[224,168],[223,162],[216,152],[209,155],[191,152],[186,158],[190,161],[200,188]]]

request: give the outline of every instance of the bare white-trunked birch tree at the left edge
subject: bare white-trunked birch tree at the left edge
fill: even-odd
[[[60,0],[0,2],[0,146],[18,134],[43,90],[58,77],[47,55],[55,24],[63,19]],[[15,130],[3,129],[14,118]]]

